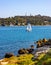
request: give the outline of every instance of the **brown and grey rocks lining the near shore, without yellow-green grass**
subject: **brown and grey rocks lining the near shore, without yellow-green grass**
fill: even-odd
[[[36,60],[41,54],[47,54],[48,51],[51,49],[51,39],[47,40],[44,38],[42,40],[36,41],[36,44],[37,44],[36,49],[34,49],[34,45],[31,45],[30,48],[28,49],[25,48],[19,49],[17,57],[20,57],[21,55],[23,56],[25,54],[27,55],[32,54],[34,56],[32,59]],[[0,65],[7,65],[8,59],[11,57],[14,57],[13,53],[6,53],[4,58],[0,60]]]

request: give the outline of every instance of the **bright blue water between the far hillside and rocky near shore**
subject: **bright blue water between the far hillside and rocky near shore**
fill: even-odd
[[[20,48],[28,48],[35,41],[51,38],[51,26],[32,26],[32,31],[26,31],[26,26],[0,27],[0,58],[5,53],[17,55]]]

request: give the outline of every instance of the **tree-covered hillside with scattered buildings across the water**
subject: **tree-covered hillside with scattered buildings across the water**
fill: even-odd
[[[24,26],[30,23],[31,25],[51,25],[51,17],[41,16],[14,16],[8,18],[0,18],[0,26]]]

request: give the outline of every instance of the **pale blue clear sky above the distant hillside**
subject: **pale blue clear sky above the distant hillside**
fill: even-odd
[[[51,16],[51,0],[0,0],[0,17],[17,15]]]

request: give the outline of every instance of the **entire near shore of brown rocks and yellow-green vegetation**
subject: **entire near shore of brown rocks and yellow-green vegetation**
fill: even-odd
[[[0,65],[51,65],[51,39],[44,38],[36,41],[36,44],[36,50],[31,45],[28,49],[19,49],[17,56],[6,53]]]

